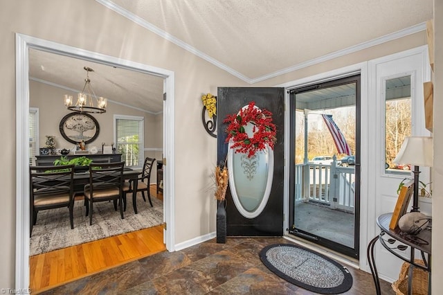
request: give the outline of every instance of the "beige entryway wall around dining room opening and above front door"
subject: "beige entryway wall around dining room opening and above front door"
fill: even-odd
[[[201,124],[200,97],[203,93],[217,93],[217,86],[251,85],[132,24],[96,1],[3,1],[0,22],[3,37],[0,47],[3,94],[0,123],[3,126],[3,142],[8,143],[3,145],[0,155],[3,163],[3,177],[0,178],[3,188],[0,208],[3,235],[0,287],[12,287],[15,275],[15,33],[174,71],[175,242],[184,242],[215,231],[215,201],[208,188],[211,186],[210,173],[217,158],[217,141],[206,134]],[[425,43],[425,34],[417,33],[260,82],[257,86],[273,86]]]

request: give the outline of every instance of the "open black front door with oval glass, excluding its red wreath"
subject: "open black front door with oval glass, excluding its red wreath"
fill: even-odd
[[[271,112],[276,127],[273,150],[268,146],[253,157],[236,153],[226,143],[224,119],[255,102]],[[219,87],[217,93],[217,163],[227,159],[226,192],[228,236],[283,235],[284,88]],[[253,123],[245,126],[253,132]]]

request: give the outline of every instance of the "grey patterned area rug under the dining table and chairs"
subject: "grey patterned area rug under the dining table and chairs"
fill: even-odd
[[[128,195],[123,220],[120,209],[114,211],[113,202],[94,203],[92,225],[89,225],[89,216],[85,216],[83,200],[75,201],[74,229],[69,224],[68,208],[39,211],[30,238],[30,256],[162,224],[163,202],[156,197],[151,199],[154,207],[144,202],[139,193],[138,214],[134,214],[132,197]]]

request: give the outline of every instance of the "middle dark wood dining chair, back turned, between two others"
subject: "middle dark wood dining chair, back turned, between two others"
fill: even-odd
[[[125,162],[90,163],[89,184],[84,186],[86,215],[89,214],[89,225],[92,225],[93,204],[96,202],[114,201],[120,204],[120,216],[123,217],[123,167]]]

